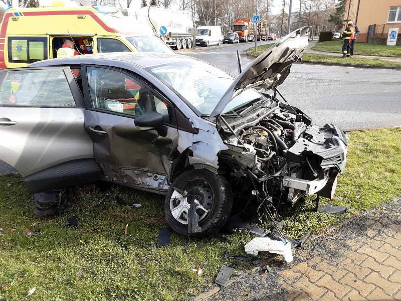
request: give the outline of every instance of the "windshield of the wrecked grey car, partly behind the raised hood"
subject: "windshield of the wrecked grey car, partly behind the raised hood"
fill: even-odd
[[[200,61],[180,61],[146,68],[202,115],[210,115],[234,78]],[[240,108],[265,97],[248,89],[232,99],[222,113],[238,113]]]

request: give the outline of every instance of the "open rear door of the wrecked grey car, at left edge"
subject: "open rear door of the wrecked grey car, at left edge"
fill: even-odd
[[[0,160],[19,171],[32,193],[101,177],[70,68],[2,70],[0,83]]]

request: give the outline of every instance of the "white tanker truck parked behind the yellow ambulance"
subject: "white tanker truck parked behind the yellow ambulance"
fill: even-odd
[[[151,6],[137,11],[128,9],[128,17],[148,25],[171,48],[179,50],[193,45],[193,26],[189,13]]]

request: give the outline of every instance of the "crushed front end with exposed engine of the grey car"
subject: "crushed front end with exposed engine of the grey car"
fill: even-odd
[[[274,97],[243,116],[219,118],[229,147],[219,153],[219,172],[238,198],[254,196],[277,209],[307,195],[333,197],[347,155],[347,136],[337,125],[312,124],[298,108]]]

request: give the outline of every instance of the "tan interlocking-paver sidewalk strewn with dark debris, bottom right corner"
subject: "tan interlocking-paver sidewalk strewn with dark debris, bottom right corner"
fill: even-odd
[[[312,239],[207,300],[401,300],[401,198]],[[199,296],[198,299],[202,299]]]

